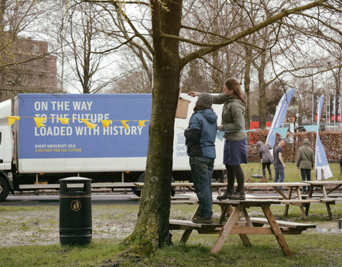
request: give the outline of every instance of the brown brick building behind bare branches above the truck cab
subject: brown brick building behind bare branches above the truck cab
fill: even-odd
[[[48,55],[48,43],[17,38],[2,51],[1,101],[18,93],[58,93],[57,58]]]

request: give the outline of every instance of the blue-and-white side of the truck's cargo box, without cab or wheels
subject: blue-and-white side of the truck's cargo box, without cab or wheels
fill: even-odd
[[[175,120],[174,170],[190,170],[183,133],[196,98],[183,97],[192,103],[187,119]],[[23,174],[144,171],[151,107],[150,94],[19,95],[18,170]],[[218,115],[221,108],[214,105]],[[38,127],[33,117],[46,117],[45,126]],[[62,124],[58,118],[70,120]],[[91,129],[82,120],[97,126]],[[110,120],[110,125],[104,127],[103,120]],[[224,169],[222,140],[217,139],[216,146],[215,169]]]

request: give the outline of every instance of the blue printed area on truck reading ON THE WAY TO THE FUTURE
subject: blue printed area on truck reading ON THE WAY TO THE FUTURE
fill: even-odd
[[[150,94],[21,94],[16,105],[19,159],[147,155]],[[34,117],[46,117],[45,126],[37,127]],[[97,126],[90,129],[81,119]]]

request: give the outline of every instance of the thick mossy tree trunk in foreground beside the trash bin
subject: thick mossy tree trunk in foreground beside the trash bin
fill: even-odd
[[[170,244],[170,190],[172,176],[175,110],[179,94],[179,41],[162,38],[161,33],[179,35],[182,1],[152,1],[154,73],[152,113],[149,128],[145,187],[140,199],[138,222],[125,244],[137,244],[153,251]]]

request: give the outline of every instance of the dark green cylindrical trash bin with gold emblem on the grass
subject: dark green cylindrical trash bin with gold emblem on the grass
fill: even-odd
[[[59,180],[59,240],[61,245],[88,245],[91,223],[91,179],[68,177]]]

